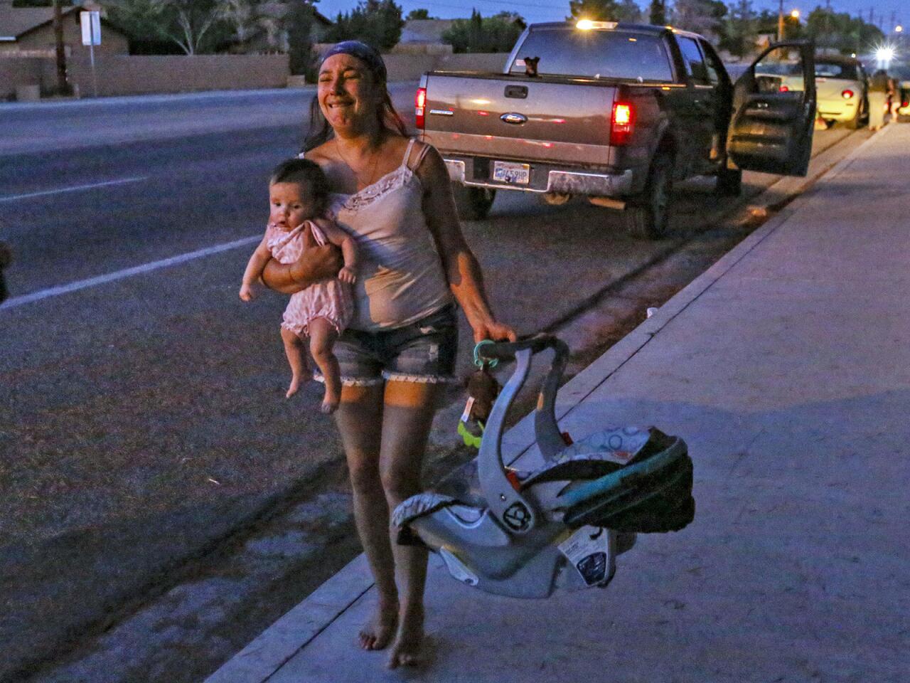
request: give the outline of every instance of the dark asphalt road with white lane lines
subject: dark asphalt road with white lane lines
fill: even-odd
[[[412,91],[396,87],[403,113]],[[15,250],[0,309],[0,679],[25,678],[342,457],[319,390],[283,398],[285,299],[237,295],[268,170],[297,150],[306,101],[0,109],[0,238]],[[816,148],[846,135],[818,132]],[[747,175],[746,194],[773,179]],[[678,236],[733,206],[704,182],[677,199]],[[667,248],[619,228],[605,209],[517,193],[464,226],[494,305],[524,332]]]

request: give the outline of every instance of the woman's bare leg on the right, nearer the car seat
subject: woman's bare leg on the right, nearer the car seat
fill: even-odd
[[[433,383],[386,382],[379,472],[389,510],[420,493],[420,467],[439,390],[440,385]],[[396,668],[420,663],[427,549],[397,545],[398,530],[389,529],[389,532],[402,593],[398,633],[389,655],[389,668]]]

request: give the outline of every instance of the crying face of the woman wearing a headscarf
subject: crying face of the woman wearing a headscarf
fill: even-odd
[[[356,56],[332,55],[322,63],[317,96],[322,115],[336,131],[359,132],[376,120],[377,87]]]

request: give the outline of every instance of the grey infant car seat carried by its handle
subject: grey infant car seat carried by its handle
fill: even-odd
[[[540,455],[525,454],[522,469],[511,468],[501,453],[503,423],[532,357],[547,349],[553,359],[534,415]],[[399,543],[428,545],[469,586],[547,597],[606,586],[635,533],[677,531],[692,521],[693,467],[682,439],[624,427],[567,444],[555,414],[569,356],[564,342],[541,334],[487,343],[478,353],[514,359],[515,370],[493,404],[477,459],[395,508]]]

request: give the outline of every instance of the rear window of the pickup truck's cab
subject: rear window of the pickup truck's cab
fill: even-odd
[[[540,57],[541,76],[587,76],[637,81],[672,81],[670,59],[660,36],[628,31],[539,29],[516,53],[509,73],[525,73],[525,57]]]

